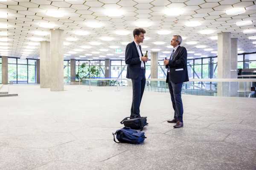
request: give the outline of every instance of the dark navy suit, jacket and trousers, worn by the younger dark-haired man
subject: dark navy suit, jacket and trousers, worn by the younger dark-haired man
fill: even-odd
[[[143,56],[140,47],[141,56]],[[127,64],[126,78],[132,81],[131,118],[140,117],[140,103],[145,88],[145,62],[141,68],[140,55],[135,42],[129,43],[125,48],[125,64]]]

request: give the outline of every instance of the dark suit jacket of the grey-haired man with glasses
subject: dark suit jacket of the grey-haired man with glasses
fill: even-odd
[[[172,60],[169,60],[170,72],[167,73],[166,82],[188,82],[187,51],[185,47],[179,46]]]

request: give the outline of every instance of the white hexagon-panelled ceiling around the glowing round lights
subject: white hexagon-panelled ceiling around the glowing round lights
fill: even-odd
[[[4,1],[4,0],[0,0]],[[230,8],[242,7],[246,12],[239,15],[227,15],[225,10]],[[124,11],[120,17],[108,17],[103,12],[106,8],[119,8]],[[164,14],[166,8],[181,8],[184,13],[179,16],[167,16]],[[67,15],[64,17],[49,17],[46,12],[49,10],[61,10]],[[92,48],[85,49],[77,54],[72,54],[65,59],[79,57],[80,55],[92,54],[93,51],[100,52],[83,59],[99,57],[99,55],[113,54],[105,58],[118,58],[123,54],[116,54],[115,49],[109,48],[110,45],[117,45],[124,51],[125,45],[120,42],[131,42],[133,40],[132,31],[136,21],[151,22],[152,26],[144,27],[147,31],[145,37],[149,40],[143,42],[148,48],[143,51],[151,51],[152,48],[159,48],[159,56],[163,51],[172,51],[167,48],[172,39],[172,35],[180,34],[186,37],[183,40],[183,46],[188,51],[195,51],[205,56],[215,56],[211,51],[204,51],[204,48],[196,48],[196,45],[207,45],[206,48],[213,48],[217,51],[217,40],[211,40],[209,37],[216,36],[220,32],[231,32],[232,37],[239,38],[239,48],[245,52],[256,51],[256,44],[249,40],[253,34],[243,34],[243,30],[255,28],[256,23],[256,0],[7,0],[0,2],[0,12],[8,13],[7,18],[0,18],[1,23],[8,23],[8,28],[1,31],[8,31],[9,38],[9,57],[20,57],[27,42],[31,42],[31,37],[43,37],[49,40],[49,36],[34,35],[35,30],[49,30],[41,28],[38,23],[49,22],[57,25],[55,28],[64,30],[65,37],[76,37],[77,41],[71,42],[71,45],[64,46],[64,53],[80,48],[81,45],[90,45],[89,42],[102,42],[102,45],[90,45]],[[1,17],[1,15],[0,15]],[[249,26],[236,26],[237,21],[251,20],[253,23]],[[104,24],[102,28],[90,28],[88,21],[100,21]],[[201,26],[187,27],[184,25],[187,21],[200,21]],[[117,30],[128,30],[128,35],[117,35]],[[211,29],[213,34],[200,34],[199,31]],[[74,31],[86,30],[90,34],[86,36],[77,36]],[[169,35],[158,35],[159,30],[172,31]],[[113,37],[112,41],[102,41],[100,37]],[[163,45],[154,45],[153,42],[162,41]],[[196,45],[187,45],[188,41],[197,41]],[[256,40],[254,40],[256,41]],[[39,48],[37,46],[28,58],[38,58]],[[107,52],[99,51],[100,48],[109,49]],[[0,50],[1,51],[1,50]],[[4,50],[6,51],[6,50]],[[189,57],[201,57],[189,54]],[[100,59],[105,59],[100,57]]]

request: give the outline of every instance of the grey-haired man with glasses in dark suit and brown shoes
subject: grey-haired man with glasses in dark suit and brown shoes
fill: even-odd
[[[174,119],[168,120],[169,123],[176,123],[173,127],[183,127],[183,105],[181,100],[181,88],[183,82],[189,81],[187,70],[187,51],[185,47],[181,47],[182,37],[174,35],[171,40],[173,51],[170,59],[164,60],[167,68],[166,82],[172,99],[172,107],[174,109]]]

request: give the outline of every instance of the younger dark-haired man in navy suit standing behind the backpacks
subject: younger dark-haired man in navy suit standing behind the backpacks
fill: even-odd
[[[125,64],[127,64],[126,78],[132,82],[132,104],[130,118],[140,117],[140,103],[145,88],[145,62],[140,43],[144,40],[146,31],[143,28],[136,28],[133,31],[134,41],[125,48]]]

